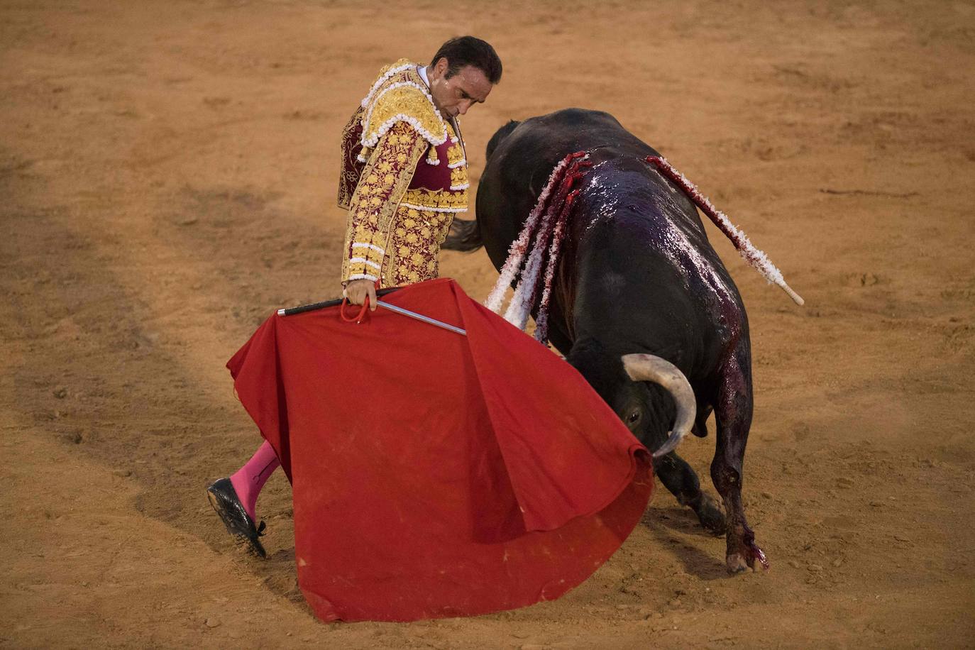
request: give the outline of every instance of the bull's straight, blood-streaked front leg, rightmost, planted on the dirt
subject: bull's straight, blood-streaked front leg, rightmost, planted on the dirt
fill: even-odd
[[[725,563],[730,573],[768,568],[768,560],[755,543],[741,499],[742,464],[752,426],[752,378],[747,347],[731,357],[723,371],[715,404],[718,447],[711,463],[711,478],[722,495],[727,523]]]

